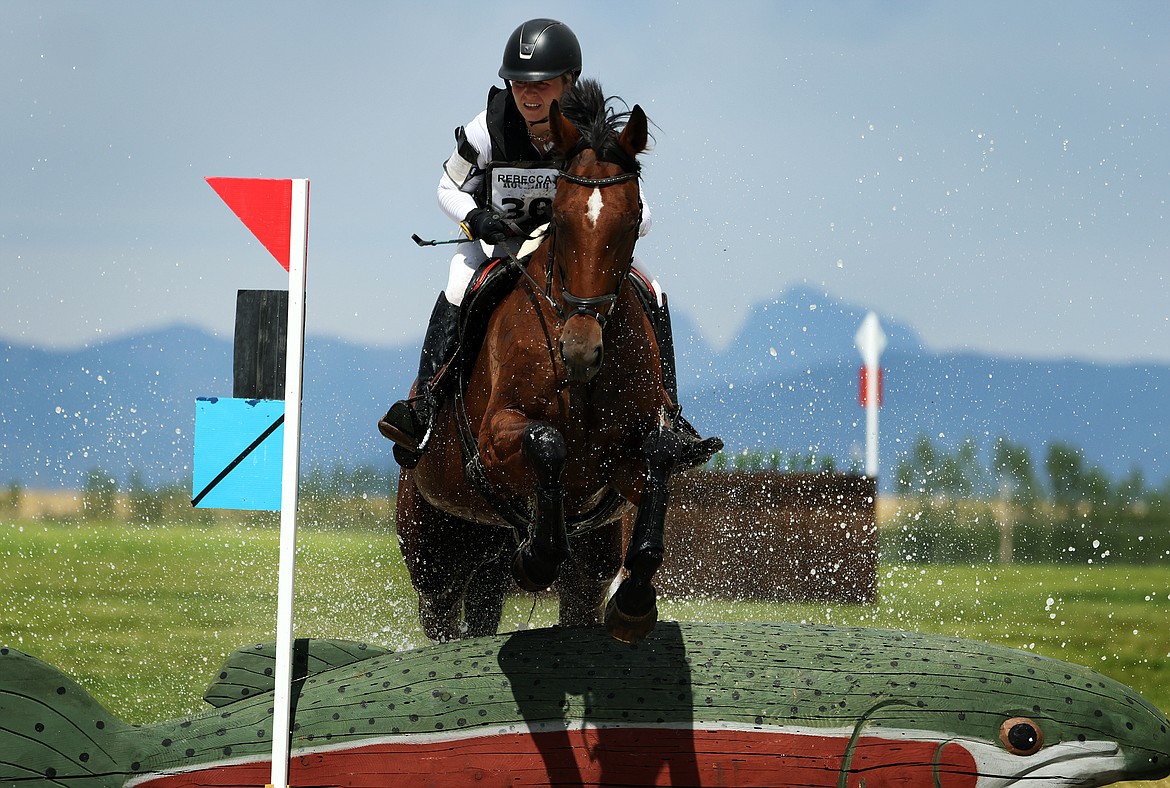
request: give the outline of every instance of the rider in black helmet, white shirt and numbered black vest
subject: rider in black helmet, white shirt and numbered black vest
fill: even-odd
[[[439,179],[439,206],[460,223],[468,240],[456,247],[447,286],[431,312],[419,360],[418,394],[395,402],[378,422],[379,431],[398,444],[395,457],[400,459],[417,459],[426,448],[445,395],[439,389],[446,388],[432,387],[431,381],[455,350],[460,304],[476,269],[490,257],[505,256],[496,255],[494,244],[526,235],[550,219],[557,170],[551,161],[549,108],[572,88],[580,72],[580,44],[567,25],[551,19],[524,22],[508,39],[500,67],[508,88],[493,87],[487,109],[455,130],[455,151]],[[639,236],[649,231],[649,216],[644,196]],[[677,403],[669,313],[662,290],[644,267],[636,268],[654,290],[651,324],[658,334],[663,383]],[[677,406],[672,415],[676,426],[697,438]]]

